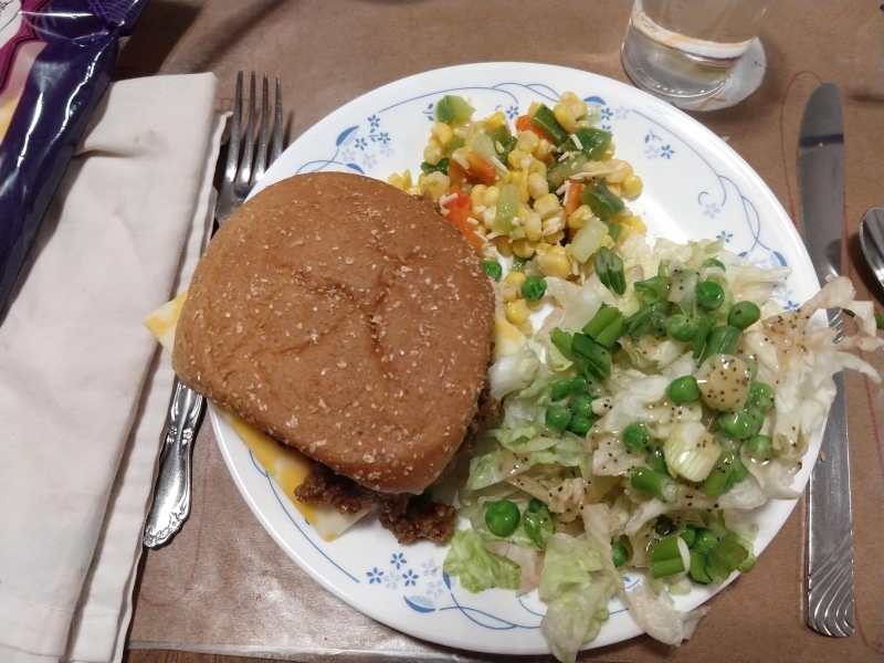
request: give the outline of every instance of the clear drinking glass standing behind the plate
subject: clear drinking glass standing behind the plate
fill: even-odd
[[[715,94],[749,50],[768,0],[635,0],[623,40],[632,82],[670,102]]]

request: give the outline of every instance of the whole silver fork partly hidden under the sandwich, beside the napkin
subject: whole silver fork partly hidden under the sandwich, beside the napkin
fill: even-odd
[[[228,160],[214,208],[214,218],[219,227],[245,202],[249,192],[264,176],[266,167],[273,164],[283,151],[283,91],[280,76],[276,76],[272,145],[269,145],[270,105],[266,73],[262,92],[261,128],[259,129],[257,155],[255,155],[255,73],[252,72],[245,143],[242,157],[240,157],[242,72],[236,75],[236,96],[233,102]],[[269,147],[270,160],[267,160]],[[159,455],[159,474],[154,490],[154,503],[145,523],[143,538],[145,546],[157,548],[168,543],[190,515],[193,440],[204,409],[206,399],[175,378],[169,412],[160,435],[162,450]]]

